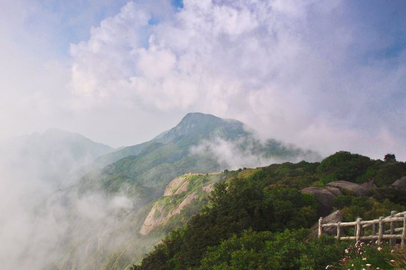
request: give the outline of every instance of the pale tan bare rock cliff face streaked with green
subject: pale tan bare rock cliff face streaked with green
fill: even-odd
[[[163,196],[155,202],[148,213],[140,234],[149,234],[172,216],[181,213],[193,200],[207,197],[218,176],[219,174],[188,174],[172,180],[166,186]]]

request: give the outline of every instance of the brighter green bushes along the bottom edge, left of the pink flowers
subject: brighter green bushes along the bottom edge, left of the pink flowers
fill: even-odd
[[[282,233],[245,231],[210,247],[199,269],[324,269],[338,261],[342,247],[332,237],[310,239],[306,229]],[[323,254],[323,256],[320,256]]]

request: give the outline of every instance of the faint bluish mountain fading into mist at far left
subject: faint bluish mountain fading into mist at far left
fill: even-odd
[[[113,150],[78,133],[48,129],[43,134],[36,132],[3,142],[0,160],[10,172],[56,180]]]

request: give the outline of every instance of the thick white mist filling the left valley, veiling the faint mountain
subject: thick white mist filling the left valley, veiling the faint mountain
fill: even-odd
[[[12,138],[1,149],[2,268],[81,267],[96,250],[113,251],[128,239],[128,229],[120,229],[128,226],[137,198],[79,192],[81,167],[113,148],[50,130]]]

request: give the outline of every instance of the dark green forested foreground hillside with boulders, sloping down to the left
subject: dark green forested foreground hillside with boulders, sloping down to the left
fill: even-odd
[[[329,212],[341,210],[341,221],[386,216],[406,209],[405,163],[341,151],[321,163],[273,164],[222,175],[210,204],[132,269],[348,269],[352,263],[366,268],[368,261],[399,269],[402,255],[397,249],[368,247],[371,258],[340,260],[349,243],[314,238],[309,228],[323,201],[306,188],[334,191]],[[333,187],[342,183],[346,187]],[[380,259],[373,260],[376,250],[382,250],[374,255]],[[394,256],[397,262],[391,261]]]

